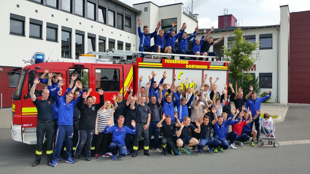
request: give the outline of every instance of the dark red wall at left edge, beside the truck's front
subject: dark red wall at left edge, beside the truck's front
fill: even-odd
[[[3,66],[0,67],[3,69],[2,71],[0,71],[0,94],[2,93],[2,107],[11,107],[12,106],[11,97],[16,87],[9,87],[10,77],[7,75],[7,72],[17,67],[3,67]]]

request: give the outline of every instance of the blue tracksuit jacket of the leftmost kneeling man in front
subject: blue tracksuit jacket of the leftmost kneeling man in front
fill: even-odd
[[[125,136],[126,133],[130,133],[130,134],[136,134],[136,127],[133,127],[133,129],[128,128],[127,126],[122,126],[122,128],[119,128],[118,125],[114,125],[109,127],[108,125],[104,128],[103,133],[113,133],[113,143],[116,143],[118,145],[125,145]],[[127,147],[129,148],[129,147]]]

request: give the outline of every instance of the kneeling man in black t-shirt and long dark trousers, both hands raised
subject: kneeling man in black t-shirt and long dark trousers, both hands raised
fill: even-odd
[[[174,155],[179,154],[178,147],[175,144],[175,141],[173,139],[173,135],[175,133],[175,128],[180,127],[181,123],[178,118],[178,113],[175,112],[174,115],[175,119],[177,120],[178,123],[172,122],[171,123],[171,117],[170,115],[165,115],[165,113],[162,115],[162,120],[160,120],[157,124],[158,128],[162,129],[162,147],[164,150],[164,155],[168,155],[168,150],[167,150],[167,144],[168,147],[171,149],[171,153]],[[166,121],[163,123],[163,121]]]

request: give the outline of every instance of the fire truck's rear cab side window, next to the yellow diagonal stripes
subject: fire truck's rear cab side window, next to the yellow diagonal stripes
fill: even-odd
[[[119,91],[119,76],[119,69],[96,68],[96,91],[98,91],[98,89],[102,89],[104,92]]]

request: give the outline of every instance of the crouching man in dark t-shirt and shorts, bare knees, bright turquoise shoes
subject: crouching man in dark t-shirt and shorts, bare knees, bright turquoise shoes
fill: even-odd
[[[188,116],[184,117],[183,122],[181,123],[181,127],[178,128],[178,132],[176,133],[177,140],[176,140],[176,145],[187,153],[191,154],[188,150],[188,148],[185,147],[192,147],[198,144],[198,140],[196,138],[190,137],[189,131],[192,129],[192,131],[196,133],[200,133],[200,124],[195,120],[196,126],[198,128],[195,128],[193,124],[191,124],[191,120]],[[185,145],[184,145],[185,144]],[[183,146],[184,145],[184,146]],[[179,154],[180,154],[180,149],[179,149]]]

